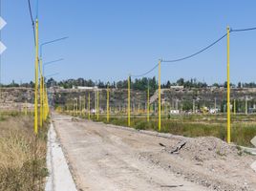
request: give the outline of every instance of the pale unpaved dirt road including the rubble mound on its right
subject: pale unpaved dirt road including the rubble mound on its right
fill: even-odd
[[[53,124],[77,190],[256,190],[255,158],[218,138],[160,138],[56,114]]]

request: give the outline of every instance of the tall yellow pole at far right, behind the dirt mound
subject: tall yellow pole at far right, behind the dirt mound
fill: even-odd
[[[227,37],[227,90],[226,90],[226,99],[227,99],[227,103],[226,103],[226,108],[227,108],[227,123],[226,123],[226,128],[227,128],[227,143],[230,143],[230,74],[229,74],[229,69],[230,69],[230,65],[229,65],[229,32],[230,29],[229,27],[226,28],[226,37]]]

